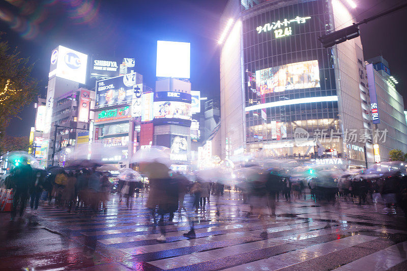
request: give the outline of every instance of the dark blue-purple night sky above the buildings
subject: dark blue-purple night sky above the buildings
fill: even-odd
[[[357,20],[407,0],[354,0]],[[219,18],[227,0],[0,0],[0,32],[21,56],[36,62],[33,76],[45,95],[51,50],[58,45],[100,56],[136,58],[136,72],[155,87],[156,43],[191,43],[192,89],[219,97]],[[365,59],[382,54],[407,105],[407,8],[360,26]],[[92,86],[90,86],[92,87]],[[93,86],[94,87],[94,86]],[[27,106],[8,134],[28,136],[34,106]]]

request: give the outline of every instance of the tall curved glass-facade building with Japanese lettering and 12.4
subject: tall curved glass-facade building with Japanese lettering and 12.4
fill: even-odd
[[[352,18],[340,0],[228,2],[220,27],[224,157],[243,147],[270,158],[373,161],[370,141],[347,139],[371,128],[360,38],[327,49],[318,40]]]

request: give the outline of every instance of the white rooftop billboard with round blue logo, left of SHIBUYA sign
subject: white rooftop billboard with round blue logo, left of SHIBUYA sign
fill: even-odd
[[[87,64],[87,54],[60,45],[51,53],[49,77],[56,76],[84,84]]]

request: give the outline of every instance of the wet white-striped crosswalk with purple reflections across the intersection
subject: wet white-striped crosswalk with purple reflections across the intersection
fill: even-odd
[[[107,211],[98,214],[68,214],[43,205],[38,217],[131,269],[401,270],[407,263],[407,232],[394,226],[403,218],[389,216],[382,205],[279,202],[277,216],[262,219],[247,216],[249,206],[230,193],[220,200],[220,216],[212,202],[205,212],[177,213],[173,224],[163,226],[166,242],[160,243],[160,227],[144,207],[146,200],[134,198],[128,209],[112,196]],[[188,219],[195,222],[196,238],[183,236],[190,229]],[[267,238],[260,237],[264,231]]]

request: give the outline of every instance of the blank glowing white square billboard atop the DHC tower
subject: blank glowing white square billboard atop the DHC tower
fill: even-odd
[[[157,41],[157,77],[189,78],[191,44]]]

